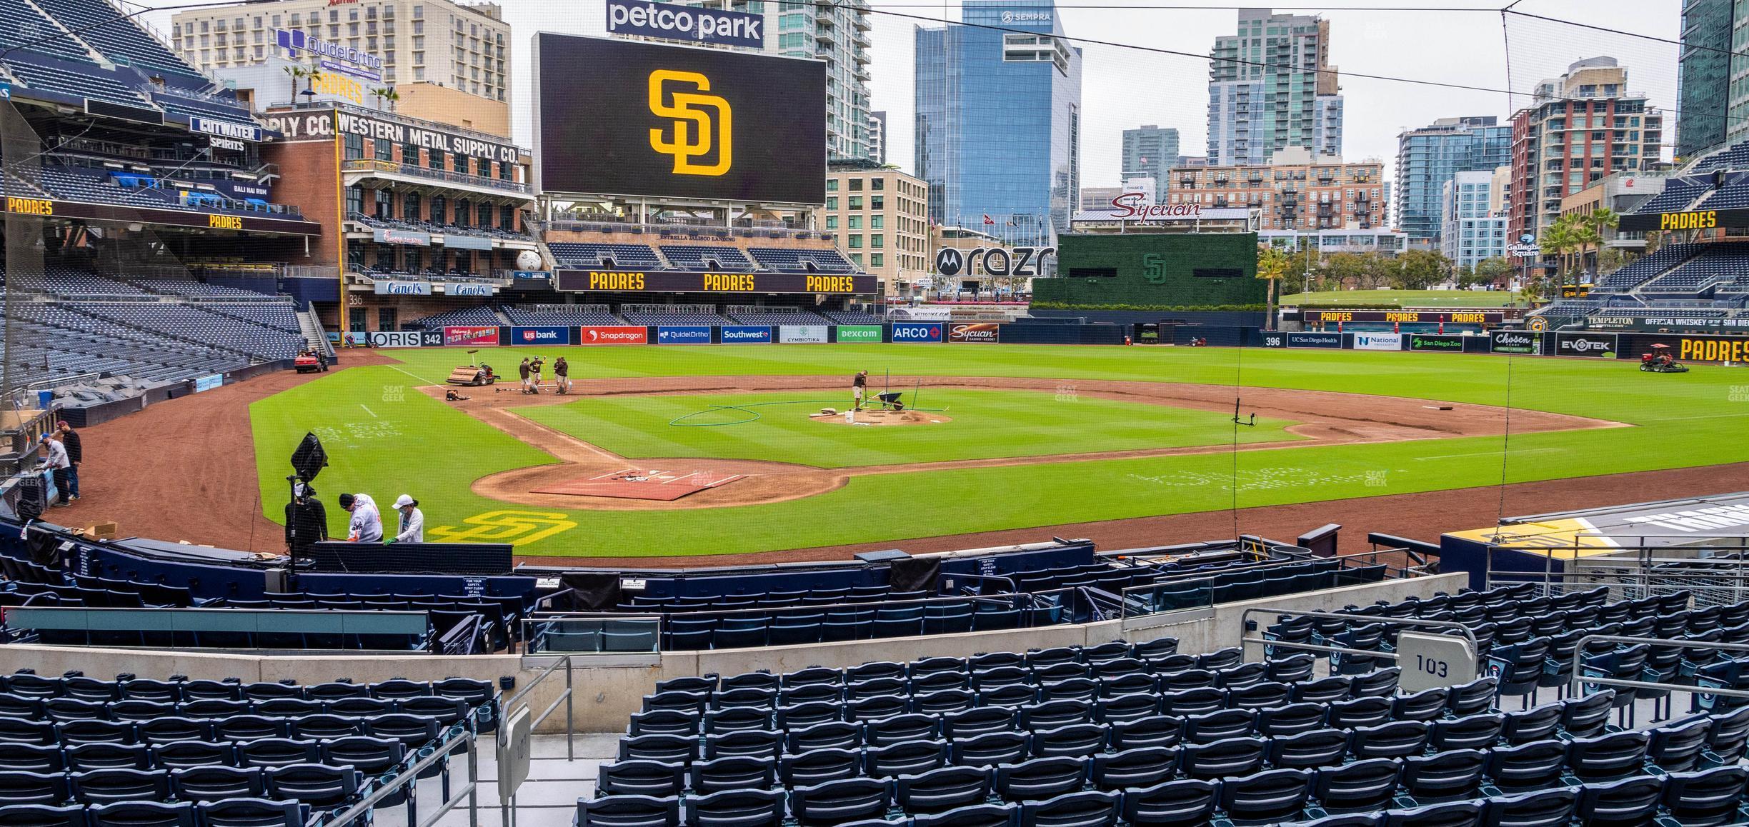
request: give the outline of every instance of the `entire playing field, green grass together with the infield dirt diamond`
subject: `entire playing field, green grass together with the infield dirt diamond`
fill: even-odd
[[[525,355],[567,357],[575,393],[518,393]],[[511,379],[446,402],[442,379],[465,351],[364,357],[248,402],[259,514],[280,519],[304,432],[331,455],[324,495],[408,491],[429,540],[512,542],[539,558],[899,546],[1749,462],[1749,378],[1707,365],[1662,376],[1616,360],[1406,351],[490,348],[477,357]],[[819,416],[850,404],[859,369],[871,393],[902,392],[915,420]],[[329,518],[341,530],[345,512]]]

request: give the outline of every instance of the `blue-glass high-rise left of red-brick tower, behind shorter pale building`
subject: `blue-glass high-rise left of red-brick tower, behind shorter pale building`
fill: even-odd
[[[1411,247],[1439,248],[1445,182],[1452,175],[1506,164],[1513,154],[1513,128],[1494,115],[1441,117],[1420,129],[1397,133],[1396,227]]]

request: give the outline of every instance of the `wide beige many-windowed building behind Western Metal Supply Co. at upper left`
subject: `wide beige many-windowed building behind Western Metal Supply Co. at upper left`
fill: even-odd
[[[324,61],[336,59],[318,52],[313,40],[373,56],[374,61],[355,70],[325,68]],[[287,49],[282,42],[297,45]],[[261,0],[184,9],[171,16],[170,44],[189,63],[215,73],[289,58],[325,68],[336,82],[350,80],[366,94],[371,87],[429,82],[505,107],[511,100],[511,24],[504,21],[498,3]],[[376,61],[381,65],[376,66]],[[378,77],[369,77],[373,73]],[[268,103],[292,103],[292,98],[257,101]],[[432,117],[429,112],[408,114]]]

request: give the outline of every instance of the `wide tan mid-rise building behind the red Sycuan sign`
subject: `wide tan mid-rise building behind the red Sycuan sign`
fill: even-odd
[[[1261,210],[1261,229],[1383,229],[1383,161],[1343,163],[1291,147],[1268,164],[1172,170],[1168,205]]]

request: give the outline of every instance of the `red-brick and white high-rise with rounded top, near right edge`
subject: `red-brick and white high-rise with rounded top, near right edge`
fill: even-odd
[[[1614,58],[1586,58],[1543,80],[1513,115],[1511,236],[1539,236],[1560,199],[1618,171],[1658,164],[1663,114],[1628,93]]]

